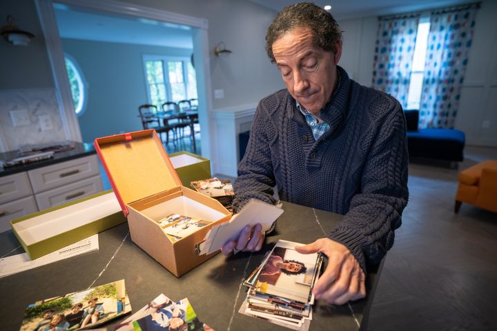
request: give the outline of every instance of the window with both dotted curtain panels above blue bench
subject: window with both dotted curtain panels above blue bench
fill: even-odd
[[[454,128],[478,8],[379,18],[373,88],[418,109],[420,128]]]

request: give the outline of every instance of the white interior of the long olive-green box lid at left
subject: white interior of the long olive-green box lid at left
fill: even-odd
[[[26,245],[32,245],[119,211],[121,211],[121,206],[115,194],[110,192],[14,223],[12,228],[17,231]]]

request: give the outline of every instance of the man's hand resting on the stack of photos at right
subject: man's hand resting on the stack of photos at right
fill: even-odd
[[[328,265],[315,283],[313,294],[316,299],[342,305],[366,297],[365,275],[351,251],[329,238],[321,238],[309,245],[297,246],[302,254],[322,252],[328,257]]]

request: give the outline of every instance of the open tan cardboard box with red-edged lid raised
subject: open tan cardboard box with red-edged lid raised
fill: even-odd
[[[182,186],[154,130],[99,138],[95,149],[128,217],[133,242],[176,277],[213,256],[200,256],[199,245],[231,213],[217,200]],[[211,223],[173,241],[157,223],[173,213]]]

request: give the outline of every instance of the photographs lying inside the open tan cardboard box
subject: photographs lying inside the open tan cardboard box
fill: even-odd
[[[164,217],[164,219],[157,221],[157,223],[172,241],[177,241],[189,236],[211,222],[180,214],[170,214]]]

